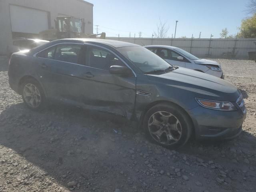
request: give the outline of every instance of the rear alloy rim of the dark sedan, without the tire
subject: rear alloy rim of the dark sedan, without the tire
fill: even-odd
[[[32,108],[37,108],[41,103],[40,92],[34,84],[29,83],[24,86],[23,96],[26,103]]]

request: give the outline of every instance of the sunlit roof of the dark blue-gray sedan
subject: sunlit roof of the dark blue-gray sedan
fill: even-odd
[[[74,41],[81,41],[81,42],[96,42],[102,43],[114,48],[118,47],[130,47],[130,46],[140,46],[133,43],[123,42],[123,41],[116,41],[116,40],[109,40],[109,39],[91,39],[91,38],[72,38],[72,39],[62,39],[64,40],[74,40]]]

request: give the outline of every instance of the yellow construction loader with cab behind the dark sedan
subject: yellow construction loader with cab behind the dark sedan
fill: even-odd
[[[84,33],[84,19],[75,18],[73,16],[59,16],[55,21],[55,29],[44,30],[39,33],[43,40],[56,40],[64,38],[106,38],[106,33],[101,34],[85,34]]]

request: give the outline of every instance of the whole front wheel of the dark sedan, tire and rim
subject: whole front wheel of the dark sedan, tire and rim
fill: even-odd
[[[174,149],[186,144],[193,124],[188,114],[179,106],[161,103],[146,112],[143,127],[150,140]]]

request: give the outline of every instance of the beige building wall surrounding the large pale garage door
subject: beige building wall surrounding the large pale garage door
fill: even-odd
[[[49,28],[55,28],[54,19],[58,15],[84,18],[85,32],[93,33],[93,4],[83,0],[0,0],[0,54],[12,41],[9,5],[19,5],[49,12]],[[27,21],[24,24],[29,24]]]

